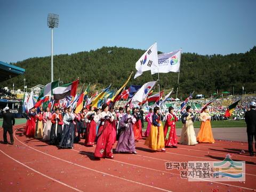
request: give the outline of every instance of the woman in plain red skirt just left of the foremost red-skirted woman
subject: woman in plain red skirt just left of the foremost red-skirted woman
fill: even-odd
[[[96,138],[96,127],[97,124],[95,123],[94,116],[95,116],[95,111],[93,111],[94,107],[91,108],[91,111],[86,114],[86,119],[87,119],[87,129],[86,129],[86,136],[85,136],[85,141],[84,145],[85,146],[94,146],[94,141]]]

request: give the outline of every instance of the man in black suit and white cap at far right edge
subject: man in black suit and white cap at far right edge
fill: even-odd
[[[250,103],[250,110],[245,112],[245,122],[247,125],[247,137],[248,137],[248,147],[250,156],[253,156],[253,136],[254,140],[256,140],[256,103]],[[255,143],[256,149],[256,143]]]

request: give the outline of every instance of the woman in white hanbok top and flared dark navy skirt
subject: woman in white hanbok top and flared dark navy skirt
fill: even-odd
[[[67,113],[63,117],[63,135],[59,144],[60,148],[74,148],[74,132],[75,132],[75,126],[74,126],[74,119],[75,115],[72,112],[72,108],[68,107]]]

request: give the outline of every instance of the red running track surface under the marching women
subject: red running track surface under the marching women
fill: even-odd
[[[247,150],[245,142],[217,140],[152,153],[141,139],[137,155],[97,161],[95,147],[83,146],[84,140],[74,149],[58,149],[26,138],[23,126],[16,126],[14,145],[0,145],[0,191],[256,191],[256,156],[239,154]],[[245,182],[189,182],[179,170],[165,169],[165,162],[221,161],[228,153],[246,161]]]

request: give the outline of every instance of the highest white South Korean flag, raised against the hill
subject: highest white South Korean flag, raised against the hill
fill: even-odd
[[[143,71],[157,68],[157,66],[158,66],[157,44],[154,43],[136,62],[135,68],[137,69],[137,73],[135,74],[134,79],[140,76]],[[152,74],[152,71],[151,71],[151,74]]]

